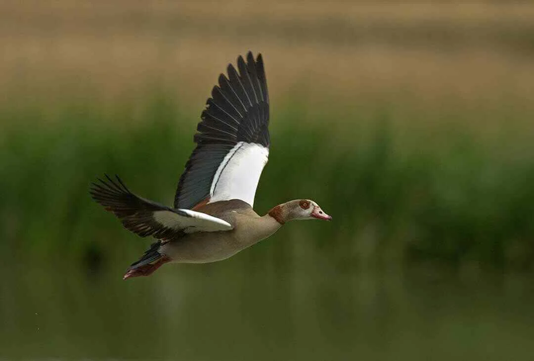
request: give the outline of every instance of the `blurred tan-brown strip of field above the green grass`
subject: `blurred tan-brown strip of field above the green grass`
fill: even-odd
[[[65,94],[137,102],[147,87],[164,87],[198,113],[206,84],[251,49],[269,59],[275,109],[289,95],[323,106],[380,100],[431,109],[494,106],[504,97],[532,108],[528,4],[0,6],[0,94],[10,104],[62,103]]]

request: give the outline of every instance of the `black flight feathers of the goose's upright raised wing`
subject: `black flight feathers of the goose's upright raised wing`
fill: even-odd
[[[191,209],[209,196],[219,164],[239,142],[266,148],[269,138],[269,94],[263,58],[252,52],[237,59],[239,72],[230,64],[228,76],[219,75],[218,85],[206,101],[197,134],[197,147],[185,164],[176,190],[174,207]]]

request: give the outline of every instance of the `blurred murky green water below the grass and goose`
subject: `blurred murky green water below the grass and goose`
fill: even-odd
[[[253,250],[249,250],[254,252]],[[247,252],[247,251],[246,251]],[[531,359],[522,274],[389,271],[324,260],[169,265],[121,280],[2,265],[1,359]]]

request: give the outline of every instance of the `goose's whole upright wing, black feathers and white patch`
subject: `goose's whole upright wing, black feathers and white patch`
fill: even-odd
[[[251,52],[230,64],[202,112],[197,147],[180,177],[175,208],[202,201],[240,199],[254,205],[261,172],[269,156],[269,95],[263,58]]]

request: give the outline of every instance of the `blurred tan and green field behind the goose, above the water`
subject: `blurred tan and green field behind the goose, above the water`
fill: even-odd
[[[531,264],[533,7],[3,7],[8,245],[42,255],[101,238],[89,225],[107,218],[85,190],[104,171],[170,201],[211,84],[250,48],[266,58],[272,100],[262,211],[317,198],[337,216],[329,242],[373,262]]]

